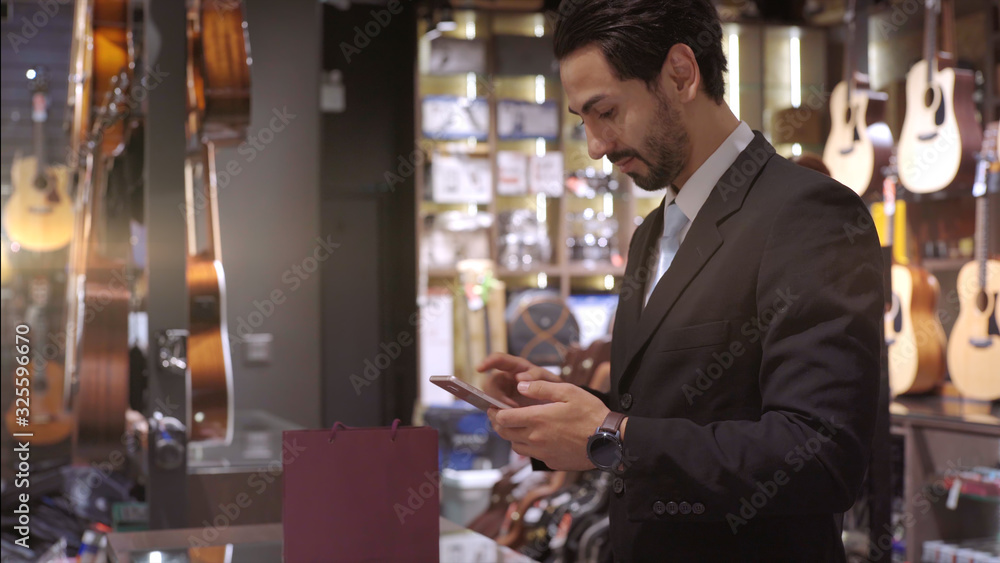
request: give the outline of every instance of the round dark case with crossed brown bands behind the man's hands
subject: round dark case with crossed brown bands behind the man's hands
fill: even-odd
[[[507,306],[507,349],[536,366],[559,366],[570,344],[580,341],[580,325],[559,294],[528,290]]]

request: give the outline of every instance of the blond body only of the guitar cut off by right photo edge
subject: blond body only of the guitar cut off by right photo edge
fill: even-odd
[[[958,319],[948,342],[948,371],[963,397],[993,401],[1000,399],[1000,335],[996,334],[1000,262],[996,260],[986,262],[985,289],[985,308],[980,309],[979,264],[963,266],[958,274]]]

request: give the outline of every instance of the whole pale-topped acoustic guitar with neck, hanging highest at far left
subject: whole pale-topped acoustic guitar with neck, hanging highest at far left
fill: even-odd
[[[69,170],[49,164],[45,143],[48,121],[48,76],[35,69],[29,79],[34,155],[15,155],[10,179],[14,193],[3,211],[10,238],[27,250],[45,252],[69,244],[73,234],[73,204],[67,193]]]

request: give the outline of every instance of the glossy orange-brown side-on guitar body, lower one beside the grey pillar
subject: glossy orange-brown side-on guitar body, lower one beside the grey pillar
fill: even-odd
[[[188,258],[187,279],[191,440],[228,443],[233,435],[233,363],[222,263],[204,254],[192,256]]]

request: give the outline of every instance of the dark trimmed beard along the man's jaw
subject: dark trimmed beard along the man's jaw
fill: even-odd
[[[612,162],[633,157],[644,162],[648,172],[628,172],[635,184],[646,191],[663,189],[673,183],[687,164],[690,140],[687,130],[681,124],[680,111],[671,107],[662,95],[656,96],[656,129],[643,142],[642,156],[637,151],[627,149],[608,155]]]

